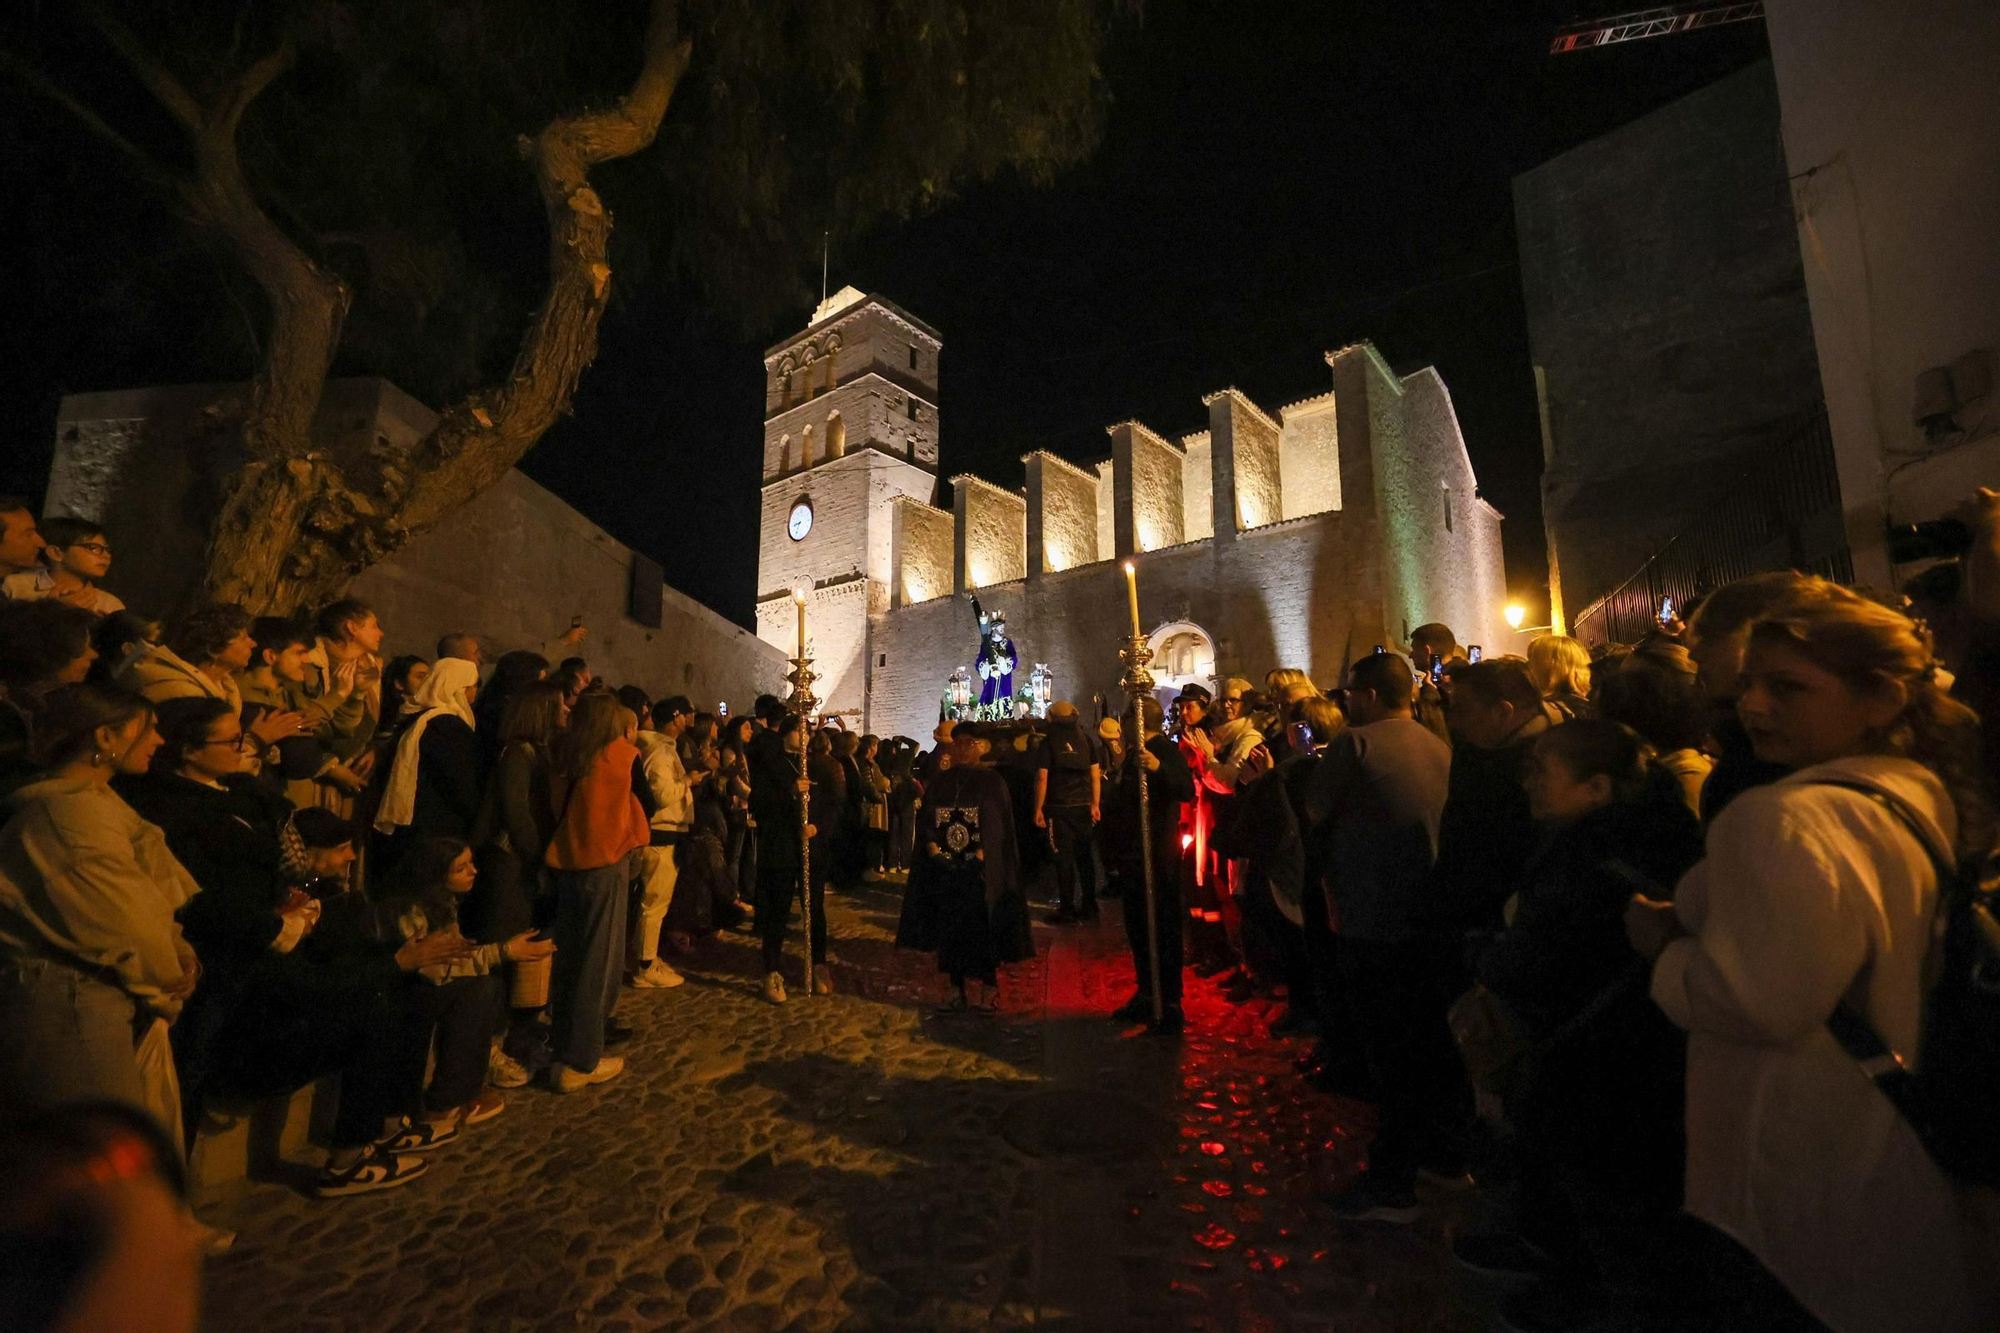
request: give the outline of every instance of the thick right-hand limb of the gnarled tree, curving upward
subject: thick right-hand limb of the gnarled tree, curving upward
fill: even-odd
[[[522,140],[548,216],[548,296],[534,312],[506,384],[446,408],[404,464],[408,490],[398,514],[418,532],[498,482],[542,438],[596,358],[598,322],[610,296],[612,218],[590,188],[590,168],[652,144],[688,72],[692,44],[680,36],[674,0],[654,0],[644,64],[616,106],[560,116]]]

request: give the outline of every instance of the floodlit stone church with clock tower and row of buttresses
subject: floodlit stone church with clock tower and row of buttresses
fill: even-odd
[[[1332,392],[1270,412],[1222,388],[1202,398],[1206,430],[1120,422],[1104,462],[1036,450],[1020,490],[954,476],[940,506],[938,350],[936,330],[846,288],[766,354],[758,632],[790,650],[792,590],[810,584],[818,695],[852,727],[928,735],[944,681],[972,662],[966,592],[1006,612],[1056,699],[1116,707],[1128,556],[1142,630],[1186,679],[1302,666],[1332,685],[1428,620],[1514,642],[1500,514],[1436,370],[1398,376],[1370,344],[1346,346],[1326,354]],[[798,504],[812,526],[794,540]]]

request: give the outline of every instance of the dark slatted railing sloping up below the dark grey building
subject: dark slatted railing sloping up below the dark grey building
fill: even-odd
[[[1774,568],[1854,580],[1834,436],[1820,406],[1776,440],[1720,464],[1706,512],[1630,578],[1570,622],[1584,642],[1636,642],[1658,626],[1660,598],[1688,598]]]

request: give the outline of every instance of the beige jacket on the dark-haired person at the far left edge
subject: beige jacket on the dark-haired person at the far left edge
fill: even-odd
[[[118,793],[42,779],[0,829],[0,959],[60,959],[174,1017],[182,979],[174,913],[200,885]]]

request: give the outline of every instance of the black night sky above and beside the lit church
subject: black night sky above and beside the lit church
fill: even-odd
[[[1548,56],[1560,24],[1602,12],[1148,0],[1104,50],[1112,106],[1088,162],[1046,190],[974,186],[836,236],[830,282],[942,332],[940,472],[1008,486],[1032,448],[1108,456],[1116,420],[1204,428],[1202,394],[1228,384],[1272,412],[1326,392],[1322,352],[1346,342],[1374,340],[1402,372],[1436,364],[1508,518],[1510,582],[1538,598],[1540,432],[1508,182],[1766,54],[1762,24],[1732,24]],[[0,384],[0,488],[40,494],[62,392],[240,374],[184,366],[172,340],[112,356],[60,282],[42,300],[28,310],[42,332]],[[700,300],[628,284],[574,416],[522,466],[672,586],[754,624],[762,352],[808,316],[744,336]]]

